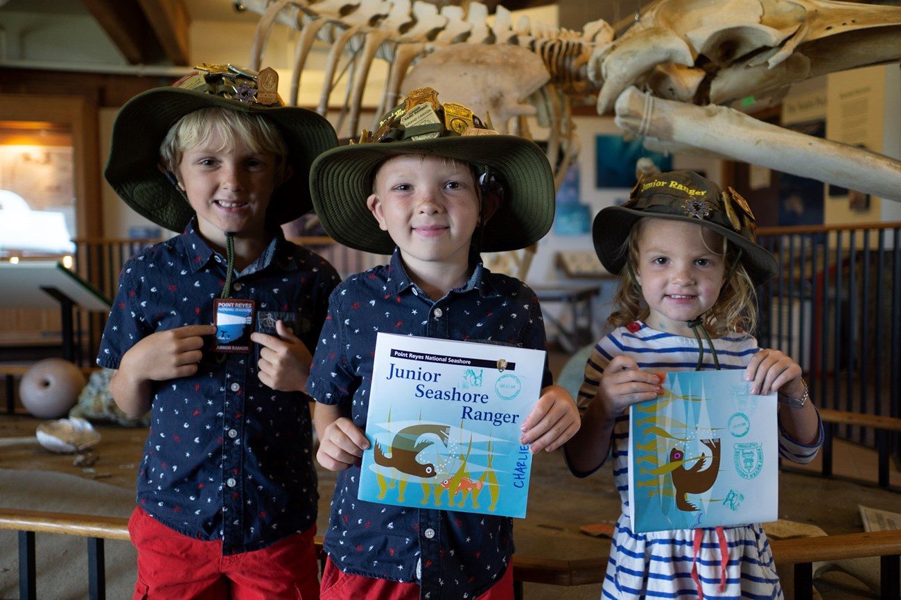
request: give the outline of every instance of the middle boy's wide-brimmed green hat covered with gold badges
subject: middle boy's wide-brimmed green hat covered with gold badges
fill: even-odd
[[[485,224],[478,250],[531,246],[554,220],[556,191],[541,148],[502,135],[469,108],[438,102],[431,87],[410,92],[359,142],[329,150],[313,163],[310,192],[316,216],[334,241],[356,250],[390,254],[395,242],[378,227],[366,205],[378,165],[401,154],[425,154],[475,166],[503,188],[503,202]]]

